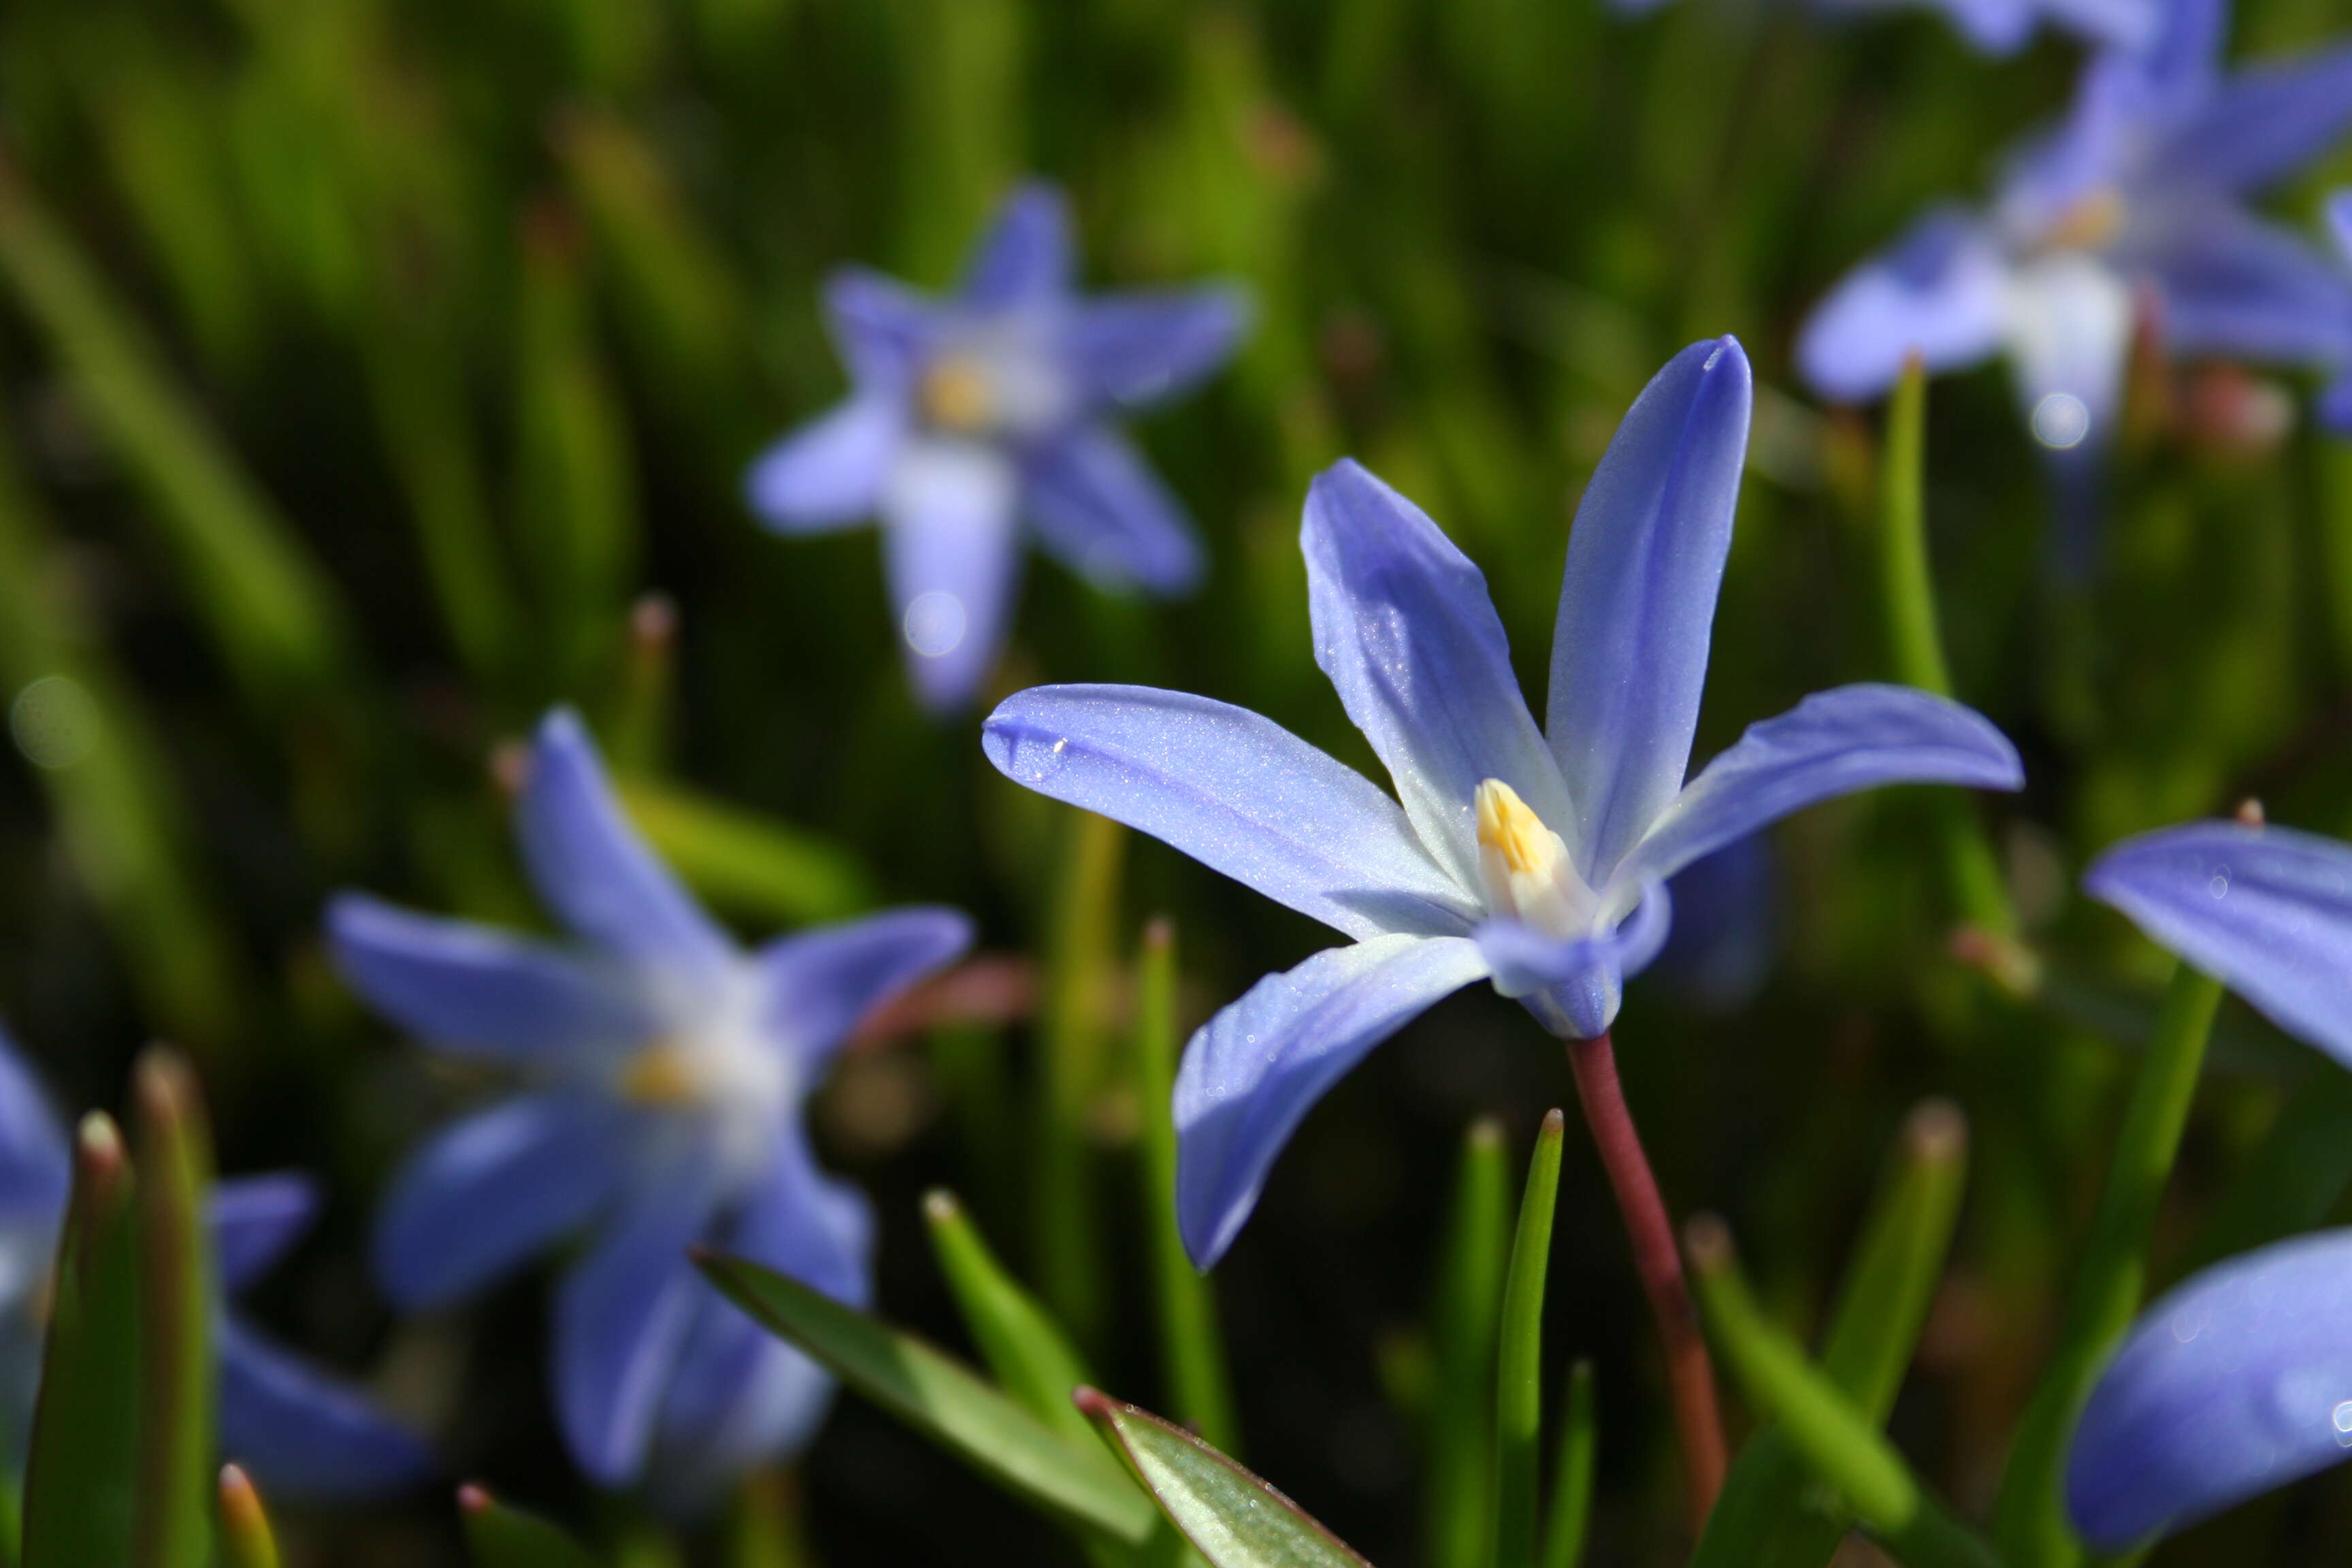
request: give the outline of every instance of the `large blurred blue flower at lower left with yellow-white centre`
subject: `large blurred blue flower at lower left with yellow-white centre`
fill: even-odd
[[[358,893],[327,914],[343,976],[379,1011],[524,1084],[397,1175],[376,1272],[393,1300],[437,1307],[593,1232],[555,1300],[564,1439],[600,1483],[696,1505],[804,1443],[830,1382],[687,1251],[868,1300],[866,1199],[818,1171],[802,1103],[858,1020],[971,929],[955,910],[891,910],[743,952],[630,830],[569,712],[539,729],[515,827],[576,947]]]

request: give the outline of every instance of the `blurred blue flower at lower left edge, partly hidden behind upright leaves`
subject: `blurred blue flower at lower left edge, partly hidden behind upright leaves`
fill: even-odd
[[[16,1048],[0,1037],[0,1422],[12,1460],[40,1389],[49,1272],[66,1220],[73,1157],[66,1133]],[[278,1262],[318,1218],[318,1187],[278,1173],[221,1182],[212,1194],[212,1246],[223,1293]],[[423,1443],[388,1422],[358,1389],[247,1328],[216,1324],[221,1458],[289,1497],[369,1497],[433,1474]]]

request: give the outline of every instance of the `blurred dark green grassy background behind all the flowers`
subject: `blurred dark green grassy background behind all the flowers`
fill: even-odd
[[[2343,0],[2256,0],[2239,52],[2347,24]],[[259,1314],[440,1432],[452,1476],[626,1537],[628,1509],[557,1450],[539,1279],[421,1324],[367,1291],[372,1194],[485,1084],[360,1013],[318,912],[358,884],[532,922],[487,757],[569,701],[746,936],[924,898],[971,907],[993,952],[1054,947],[1077,830],[985,766],[976,717],[913,708],[873,536],[786,543],[739,501],[760,444],[840,393],[823,275],[943,284],[1037,172],[1073,193],[1089,282],[1247,282],[1240,362],[1141,425],[1207,585],[1157,607],[1033,564],[997,689],[1204,691],[1367,769],[1308,646],[1310,475],[1355,454],[1425,503],[1541,689],[1566,524],[1616,418],[1684,341],[1740,334],[1759,407],[1708,755],[1891,672],[1877,414],[1792,386],[1795,324],[1924,200],[1978,188],[2074,66],[2063,42],[1978,59],[1917,12],[1757,0],[1639,24],[1595,0],[9,0],[0,1013],[73,1107],[115,1103],[141,1039],[188,1044],[223,1168],[301,1164],[332,1190]],[[2310,223],[2326,183],[2281,212]],[[1907,1105],[1966,1107],[1959,1265],[1896,1415],[1962,1507],[1997,1479],[2161,976],[2074,875],[2244,792],[2352,830],[2352,454],[2249,416],[2300,395],[2143,367],[2103,569],[2065,590],[2002,374],[1933,390],[1955,684],[2032,776],[1980,809],[2046,954],[2034,1004],[1947,957],[1936,811],[1889,795],[1778,832],[1759,997],[1708,1013],[1649,980],[1618,1030],[1670,1201],[1726,1211],[1797,1326]],[[1117,851],[1094,844],[1124,860],[1103,959],[1171,912],[1190,1018],[1324,943],[1157,844]],[[1127,1171],[1136,1117],[1164,1112],[1122,1091],[1101,990],[1077,1077],[1096,1244],[1056,1262],[1101,1281],[1082,1328],[1150,1401]],[[818,1103],[830,1164],[882,1206],[887,1314],[960,1342],[927,1185],[1033,1255],[1037,1084],[1014,1018],[861,1051]],[[1428,1561],[1423,1324],[1461,1131],[1494,1112],[1524,1147],[1569,1093],[1508,1004],[1437,1009],[1317,1110],[1218,1272],[1251,1462],[1388,1568]],[[2347,1185],[2352,1081],[2234,1009],[2157,1276],[2343,1218]],[[1592,1561],[1675,1561],[1653,1352],[1573,1138],[1557,1258],[1552,1354],[1599,1363]],[[851,1401],[800,1493],[837,1568],[1068,1559]],[[445,1495],[287,1533],[299,1561],[456,1561]],[[2345,1549],[2338,1474],[2154,1561]]]

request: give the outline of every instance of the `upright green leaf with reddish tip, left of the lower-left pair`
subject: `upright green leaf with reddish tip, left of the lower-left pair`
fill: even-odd
[[[139,1234],[122,1133],[103,1112],[73,1135],[24,1483],[26,1568],[127,1568],[139,1467]]]

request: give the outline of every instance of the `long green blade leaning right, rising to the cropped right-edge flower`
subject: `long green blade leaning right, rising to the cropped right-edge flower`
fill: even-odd
[[[2065,1443],[2100,1363],[2140,1309],[2147,1237],[2180,1154],[2216,1009],[2220,980],[2178,964],[2124,1110],[2107,1187],[2082,1244],[2065,1324],[2009,1448],[1994,1533],[2011,1568],[2072,1568],[2082,1561],[2082,1542],[2065,1519]]]

